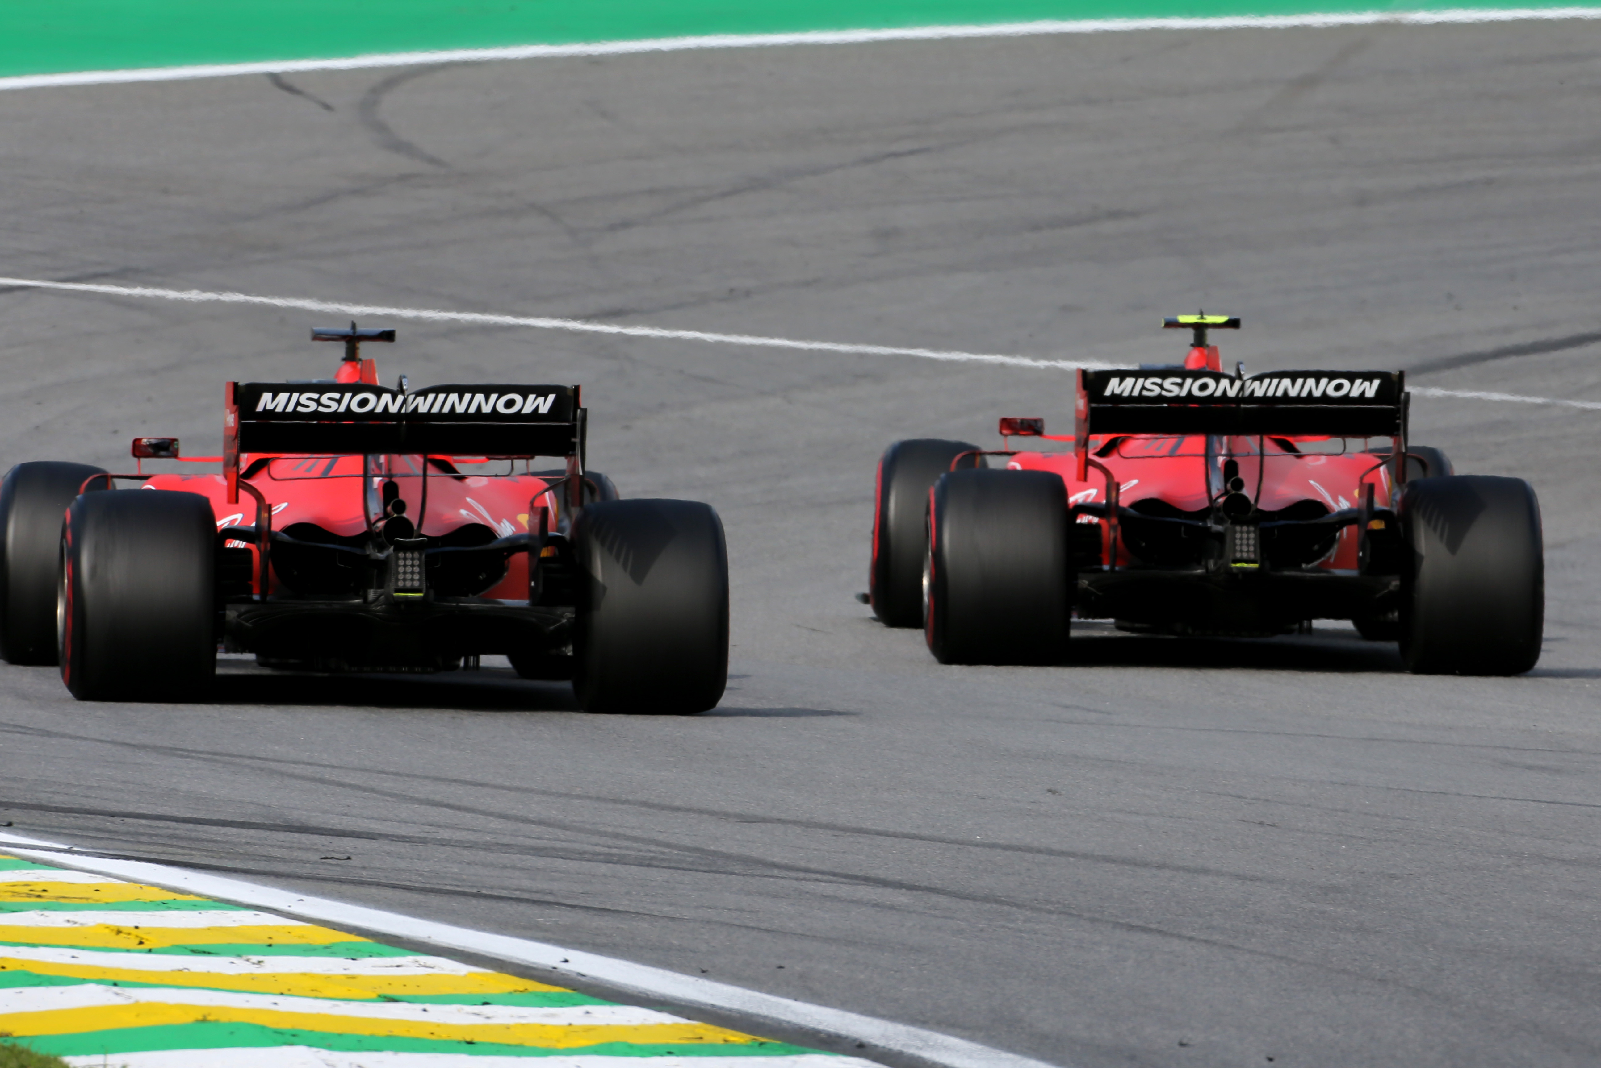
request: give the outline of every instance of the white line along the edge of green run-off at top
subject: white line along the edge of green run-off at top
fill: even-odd
[[[996,22],[993,26],[911,26],[881,30],[813,30],[804,34],[711,34],[660,37],[581,45],[514,45],[509,48],[453,48],[403,51],[331,59],[271,59],[266,62],[147,67],[136,70],[77,70],[0,78],[0,90],[37,90],[67,85],[115,85],[125,82],[179,82],[248,74],[298,74],[303,70],[360,70],[408,67],[424,62],[490,62],[498,59],[559,59],[565,56],[626,56],[637,53],[696,51],[708,48],[792,48],[797,45],[871,45],[877,42],[929,42],[973,37],[1042,37],[1063,34],[1127,34],[1132,30],[1279,30],[1330,26],[1439,26],[1515,22],[1527,19],[1601,19],[1601,8],[1454,8],[1449,11],[1356,11],[1345,14],[1223,16],[1212,19],[1076,19]]]

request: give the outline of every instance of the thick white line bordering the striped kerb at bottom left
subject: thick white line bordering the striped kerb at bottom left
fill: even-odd
[[[163,886],[184,894],[215,897],[235,905],[288,913],[339,929],[355,927],[363,932],[407,938],[408,942],[421,942],[458,953],[474,953],[524,967],[554,972],[556,975],[570,977],[575,982],[594,980],[645,998],[660,998],[680,1006],[700,1006],[717,1012],[730,1012],[756,1023],[781,1023],[823,1034],[844,1036],[866,1042],[868,1049],[863,1054],[866,1057],[871,1057],[873,1047],[877,1047],[919,1057],[930,1063],[945,1065],[946,1068],[1050,1068],[1045,1062],[989,1049],[988,1046],[949,1034],[938,1034],[937,1031],[925,1031],[905,1023],[877,1020],[826,1006],[813,1006],[804,1001],[791,1001],[789,998],[743,990],[695,975],[679,975],[677,972],[634,964],[632,961],[564,950],[548,942],[530,942],[527,938],[512,938],[427,919],[415,919],[378,908],[346,905],[344,902],[325,897],[295,894],[291,891],[256,886],[255,883],[171,868],[160,863],[85,857],[70,852],[69,846],[22,838],[21,835],[0,833],[0,843],[6,844],[8,854],[40,863],[59,863],[118,879]],[[29,849],[29,846],[35,849]],[[194,961],[194,958],[189,959]],[[367,1057],[363,1054],[363,1058]],[[552,1063],[560,1063],[560,1058],[551,1060]],[[363,1060],[362,1063],[376,1065],[379,1062]],[[394,1063],[399,1068],[402,1062],[397,1060]]]

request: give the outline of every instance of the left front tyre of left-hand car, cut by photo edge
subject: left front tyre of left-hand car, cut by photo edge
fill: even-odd
[[[56,662],[56,563],[61,516],[83,483],[104,475],[88,464],[18,464],[0,483],[0,657]],[[104,489],[96,480],[90,489]]]

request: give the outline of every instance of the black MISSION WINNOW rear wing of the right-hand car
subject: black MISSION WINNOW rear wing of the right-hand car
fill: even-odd
[[[1079,480],[1087,475],[1090,435],[1404,438],[1406,401],[1404,371],[1266,371],[1250,377],[1222,371],[1079,371]]]

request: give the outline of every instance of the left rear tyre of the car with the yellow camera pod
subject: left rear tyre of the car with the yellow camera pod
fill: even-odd
[[[1060,664],[1076,572],[1050,472],[962,470],[933,486],[924,633],[940,664]]]

